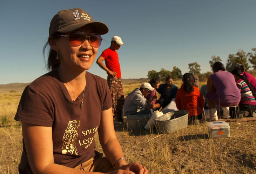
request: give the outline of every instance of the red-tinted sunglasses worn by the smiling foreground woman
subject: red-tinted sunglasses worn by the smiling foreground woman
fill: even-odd
[[[98,34],[84,33],[81,31],[74,31],[69,33],[69,35],[59,35],[59,36],[68,37],[68,41],[71,46],[82,45],[88,37],[87,40],[89,41],[90,45],[94,48],[99,48],[102,41],[101,36]]]

